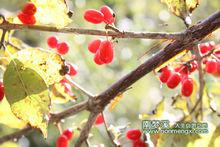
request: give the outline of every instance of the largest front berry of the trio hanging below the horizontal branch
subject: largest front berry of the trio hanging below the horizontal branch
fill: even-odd
[[[111,63],[114,56],[114,50],[111,41],[103,41],[99,46],[100,59],[104,63]]]

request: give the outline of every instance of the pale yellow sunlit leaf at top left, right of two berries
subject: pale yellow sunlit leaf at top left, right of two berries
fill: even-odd
[[[35,14],[37,24],[65,27],[71,19],[64,0],[31,0],[37,7]]]

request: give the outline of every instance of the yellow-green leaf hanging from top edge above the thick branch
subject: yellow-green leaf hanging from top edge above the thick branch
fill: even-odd
[[[199,0],[161,0],[161,2],[165,3],[173,14],[183,19],[188,25],[190,22],[186,18],[190,18],[192,11],[199,5]]]

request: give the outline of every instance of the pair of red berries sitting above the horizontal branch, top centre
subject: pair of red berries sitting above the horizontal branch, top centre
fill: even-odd
[[[104,5],[99,10],[88,9],[84,13],[84,19],[93,24],[106,23],[113,24],[115,22],[115,14],[113,10]]]

